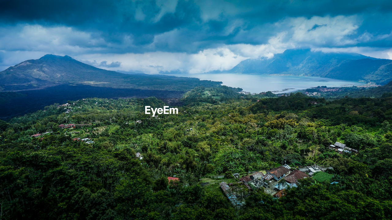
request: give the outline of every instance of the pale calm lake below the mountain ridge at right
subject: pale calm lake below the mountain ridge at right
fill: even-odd
[[[313,76],[264,76],[250,74],[191,74],[191,77],[222,81],[229,87],[240,87],[245,92],[260,93],[271,91],[274,93],[294,92],[317,86],[351,87],[364,85],[363,82],[346,81],[340,79],[321,78]]]

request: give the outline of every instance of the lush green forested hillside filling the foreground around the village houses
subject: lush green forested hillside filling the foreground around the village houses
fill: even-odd
[[[144,114],[146,105],[165,105],[154,97],[91,98],[1,121],[1,218],[392,218],[392,96],[326,101],[236,91],[195,88],[178,115]],[[358,153],[329,149],[336,141]],[[279,199],[241,189],[240,207],[220,190],[222,181],[240,188],[234,173],[284,163],[332,169]]]

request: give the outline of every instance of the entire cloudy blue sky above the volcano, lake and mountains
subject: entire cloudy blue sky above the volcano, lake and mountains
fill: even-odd
[[[392,59],[390,0],[0,0],[0,70],[45,54],[108,70],[230,70],[286,49]]]

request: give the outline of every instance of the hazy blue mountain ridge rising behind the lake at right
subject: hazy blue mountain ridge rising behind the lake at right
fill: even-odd
[[[248,59],[229,72],[294,74],[386,84],[392,80],[392,60],[355,53],[324,53],[309,49],[286,50],[271,59]]]

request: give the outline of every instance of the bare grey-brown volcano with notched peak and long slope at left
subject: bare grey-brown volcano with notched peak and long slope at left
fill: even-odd
[[[177,91],[220,84],[197,78],[123,74],[87,65],[70,56],[52,54],[47,54],[38,60],[26,60],[0,72],[0,87],[3,91],[40,89],[64,83]]]

